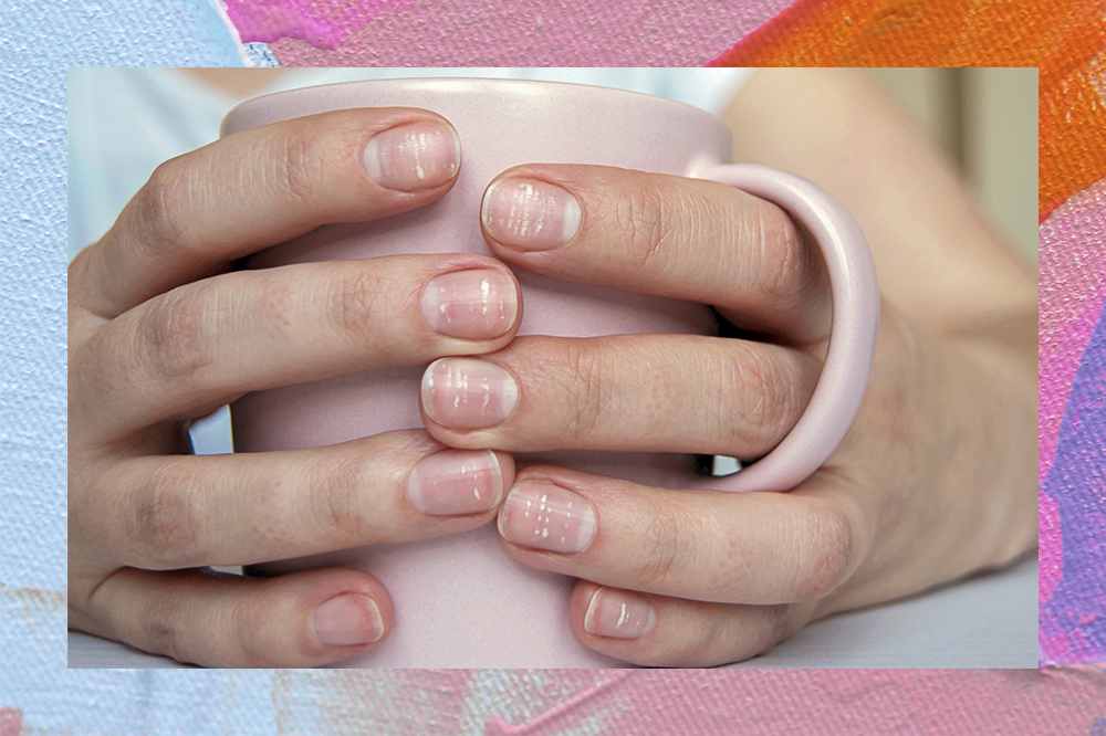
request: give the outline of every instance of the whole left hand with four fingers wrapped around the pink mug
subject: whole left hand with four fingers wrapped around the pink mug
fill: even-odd
[[[459,166],[452,127],[424,111],[268,125],[163,164],[77,255],[69,275],[72,628],[210,666],[344,660],[388,634],[393,607],[379,581],[351,569],[250,579],[204,568],[493,518],[513,482],[505,453],[444,450],[419,430],[189,456],[185,427],[247,391],[505,345],[519,292],[494,259],[230,272],[236,259],[320,224],[427,204]],[[503,311],[481,309],[500,299]],[[451,480],[462,467],[463,486]]]

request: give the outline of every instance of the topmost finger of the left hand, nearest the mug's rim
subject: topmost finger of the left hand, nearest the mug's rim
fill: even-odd
[[[452,126],[419,109],[337,111],[236,133],[154,171],[70,266],[70,299],[114,317],[317,225],[431,202],[459,166]]]

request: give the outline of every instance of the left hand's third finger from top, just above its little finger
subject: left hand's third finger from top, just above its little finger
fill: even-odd
[[[72,502],[75,533],[122,565],[251,565],[482,526],[514,481],[502,452],[421,431],[311,450],[114,461]]]

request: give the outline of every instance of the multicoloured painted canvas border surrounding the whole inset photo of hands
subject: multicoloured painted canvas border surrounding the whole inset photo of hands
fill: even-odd
[[[260,4],[259,0],[255,6]],[[269,24],[258,25],[254,18],[251,29],[239,18],[247,31],[299,28],[301,36],[324,48],[292,38],[258,36],[272,40],[272,45],[254,46],[243,55],[232,28],[206,0],[70,4],[8,0],[0,25],[0,160],[4,161],[0,181],[0,736],[14,736],[21,729],[25,734],[93,735],[479,734],[493,718],[509,724],[541,721],[520,729],[492,722],[487,733],[695,733],[689,725],[709,725],[700,716],[712,709],[726,724],[740,725],[742,733],[750,734],[1106,735],[1106,677],[1093,667],[639,672],[619,675],[591,696],[593,688],[615,675],[456,671],[337,677],[282,671],[65,669],[66,66],[223,66],[240,65],[250,57],[357,64],[702,64],[718,57],[738,60],[741,46],[727,55],[729,48],[787,4],[786,0],[774,4],[653,0],[611,2],[598,11],[575,0],[539,0],[528,6],[530,14],[504,18],[501,3],[494,0],[371,0],[362,4],[368,11],[356,17],[327,15],[331,6],[317,0],[267,2]],[[867,18],[863,12],[872,11],[874,3],[854,3],[853,10],[842,11],[847,4],[800,0],[792,10],[815,18],[816,12],[836,8],[836,14],[823,18],[820,28],[826,28],[839,25],[846,17]],[[896,28],[929,38],[919,35],[917,28],[910,30],[909,10],[915,4],[897,3],[906,15],[898,18],[902,22]],[[947,4],[951,10],[943,12],[954,19],[970,3]],[[1009,11],[1013,6],[994,2],[989,7]],[[1102,28],[1095,21],[1103,17],[1103,8],[1100,0],[1042,3],[1036,10],[1024,3],[1020,7],[1030,20],[1044,19],[1037,38],[1055,42],[1043,52],[1037,50],[1043,55],[1021,60],[1031,62],[1025,65],[1054,62],[1042,76],[1042,177],[1047,178],[1048,170],[1057,172],[1042,183],[1042,192],[1051,197],[1042,200],[1042,219],[1048,217],[1042,224],[1041,242],[1042,471],[1066,470],[1055,483],[1046,484],[1048,491],[1042,495],[1042,561],[1051,559],[1058,568],[1042,580],[1042,598],[1052,607],[1042,609],[1042,652],[1045,660],[1060,653],[1055,661],[1102,662],[1106,660],[1100,628],[1106,620],[1102,616],[1106,589],[1087,571],[1106,567],[1103,550],[1094,546],[1095,540],[1106,538],[1103,443],[1102,435],[1095,434],[1103,427],[1103,402],[1096,398],[1102,396],[1096,391],[1103,374],[1095,358],[1098,354],[1088,357],[1085,351],[1100,323],[1102,276],[1106,274],[1102,263],[1106,197],[1102,185],[1094,185],[1106,170],[1094,168],[1093,155],[1106,148],[1100,145],[1102,130],[1106,130],[1104,44],[1100,32],[1094,30]],[[1057,7],[1066,8],[1067,17],[1056,15]],[[293,12],[296,8],[299,15]],[[305,14],[304,8],[322,9],[322,20]],[[1078,10],[1085,13],[1079,15]],[[776,30],[766,41],[759,36],[758,49],[776,53],[791,49],[787,53],[794,57],[801,34],[811,31],[801,23],[796,30],[795,12],[781,17],[791,25],[764,25],[762,32]],[[1092,20],[1089,40],[1065,36],[1065,29],[1076,28],[1073,18]],[[981,31],[995,43],[980,48],[1022,48],[1010,34],[1022,32],[1018,29],[1025,28],[1025,18],[1020,24],[1015,17],[999,20],[1005,24],[992,23]],[[843,43],[839,34],[834,38],[837,41],[822,44],[823,51],[854,54],[852,61],[845,54],[835,57],[835,63],[878,63],[877,55],[863,44]],[[935,49],[924,46],[919,53]],[[781,57],[789,56],[783,53]],[[1082,133],[1065,135],[1065,125]],[[1086,156],[1073,157],[1073,150]],[[1075,403],[1071,397],[1077,397]],[[1056,613],[1052,622],[1050,610]],[[681,707],[654,709],[674,696],[679,696]],[[549,715],[551,708],[573,703],[574,697],[583,697],[574,709]],[[936,716],[917,717],[919,708],[935,703]]]

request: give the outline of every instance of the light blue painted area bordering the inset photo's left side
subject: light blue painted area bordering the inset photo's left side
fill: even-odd
[[[273,734],[272,672],[69,671],[66,69],[241,66],[207,0],[6,0],[0,23],[0,706],[35,734]]]

